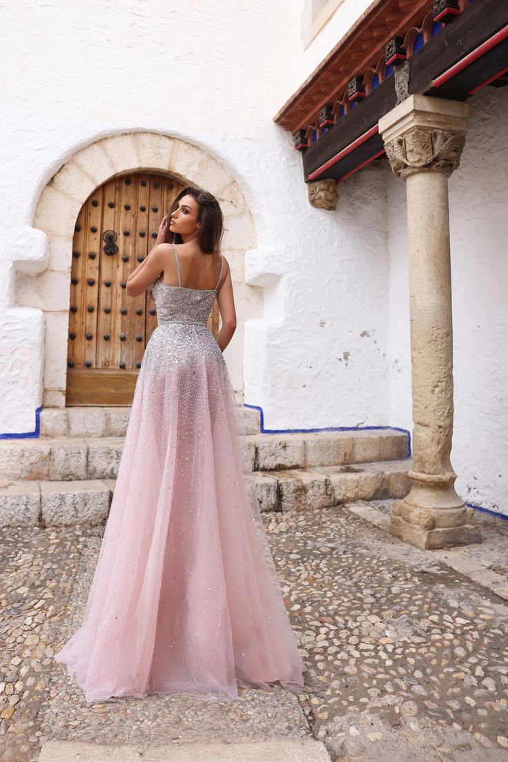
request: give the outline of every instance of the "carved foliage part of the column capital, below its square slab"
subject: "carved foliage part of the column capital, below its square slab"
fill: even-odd
[[[417,127],[385,142],[385,151],[391,169],[402,180],[421,169],[434,169],[449,177],[458,167],[464,144],[465,133]]]

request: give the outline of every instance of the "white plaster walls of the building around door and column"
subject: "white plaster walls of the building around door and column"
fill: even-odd
[[[58,389],[65,374],[69,289],[69,242],[52,246],[65,236],[36,223],[48,183],[80,152],[125,133],[139,145],[152,133],[183,152],[195,146],[241,197],[247,218],[238,222],[252,220],[251,232],[226,223],[243,330],[225,359],[264,427],[411,431],[404,182],[383,159],[339,184],[337,210],[315,209],[292,136],[273,123],[368,5],[344,0],[305,50],[303,0],[3,8],[0,435],[30,434],[40,405],[62,404],[49,394],[43,403],[48,379]],[[452,465],[465,501],[508,515],[508,91],[484,88],[468,103],[465,149],[449,178]],[[162,160],[171,171],[170,154]],[[90,190],[69,180],[64,193],[78,203]]]

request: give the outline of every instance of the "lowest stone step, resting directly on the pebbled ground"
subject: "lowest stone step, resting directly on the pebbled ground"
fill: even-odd
[[[357,500],[403,498],[411,460],[254,472],[260,511],[299,511]],[[0,482],[0,526],[56,527],[101,524],[115,479]]]

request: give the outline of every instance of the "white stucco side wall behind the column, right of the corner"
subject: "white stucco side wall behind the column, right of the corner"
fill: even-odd
[[[508,515],[508,88],[468,99],[471,118],[450,175],[455,488],[467,502]],[[404,182],[387,167],[390,252],[387,379],[392,425],[412,430],[407,214]]]

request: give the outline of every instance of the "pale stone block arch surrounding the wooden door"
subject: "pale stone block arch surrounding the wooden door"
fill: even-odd
[[[43,406],[65,407],[72,238],[79,210],[94,188],[116,175],[135,171],[163,172],[184,184],[199,185],[221,204],[225,218],[222,252],[231,266],[237,307],[241,304],[226,360],[238,402],[243,402],[244,322],[258,316],[255,308],[260,290],[244,280],[245,251],[256,245],[254,220],[244,194],[206,150],[181,138],[138,132],[104,137],[79,149],[40,194],[33,227],[47,236],[46,267],[38,274],[27,274],[30,267],[24,262],[24,272],[16,274],[16,306],[44,313]]]

